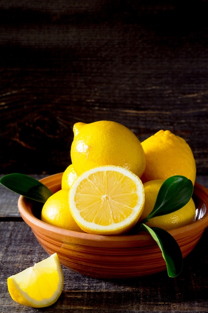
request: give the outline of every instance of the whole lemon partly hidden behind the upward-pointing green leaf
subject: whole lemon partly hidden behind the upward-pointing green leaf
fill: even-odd
[[[164,181],[165,180],[162,179],[155,179],[144,183],[145,206],[142,215],[140,216],[140,221],[147,217],[153,210],[159,189]],[[147,225],[150,227],[156,226],[165,230],[170,230],[193,222],[195,220],[195,213],[196,206],[191,198],[189,202],[179,210],[149,219]]]

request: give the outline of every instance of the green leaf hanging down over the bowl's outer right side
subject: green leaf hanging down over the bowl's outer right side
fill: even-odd
[[[168,231],[159,227],[141,224],[140,229],[147,231],[157,242],[166,262],[169,277],[178,276],[183,268],[183,256],[175,238]]]

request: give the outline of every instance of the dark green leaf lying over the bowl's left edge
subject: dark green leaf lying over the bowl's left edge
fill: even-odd
[[[0,183],[11,191],[32,200],[45,202],[52,191],[37,179],[20,173],[12,173],[0,178]]]

